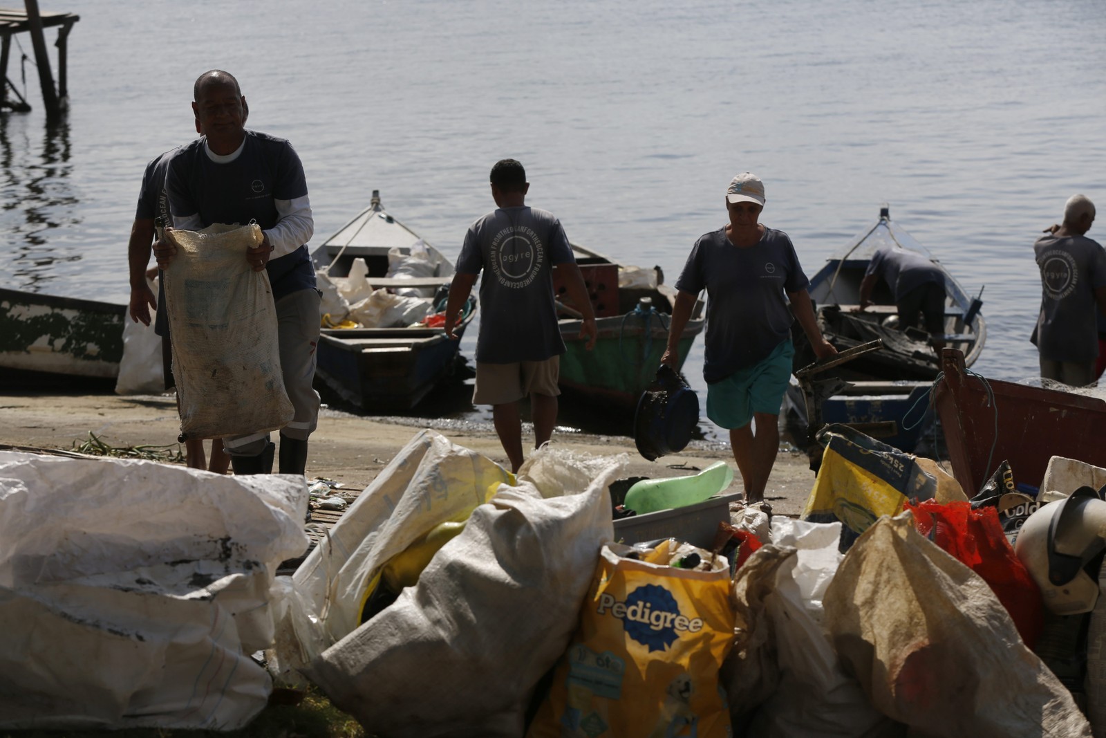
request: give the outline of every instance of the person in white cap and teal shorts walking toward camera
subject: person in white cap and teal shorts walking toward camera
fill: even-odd
[[[729,222],[699,237],[676,281],[668,347],[660,361],[678,365],[680,335],[706,289],[707,417],[730,430],[745,500],[759,502],[780,448],[776,424],[795,353],[792,314],[818,358],[837,350],[818,330],[806,292],[810,282],[791,239],[758,221],[764,208],[760,178],[748,171],[734,177],[726,190],[726,208]]]

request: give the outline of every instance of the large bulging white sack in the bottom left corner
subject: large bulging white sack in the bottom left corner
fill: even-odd
[[[0,451],[0,728],[231,730],[303,478]]]

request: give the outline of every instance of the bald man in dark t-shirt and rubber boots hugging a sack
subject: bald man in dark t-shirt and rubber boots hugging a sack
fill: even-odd
[[[238,81],[211,70],[196,80],[192,113],[200,138],[169,163],[166,189],[175,228],[200,230],[212,224],[255,221],[263,235],[246,259],[269,274],[276,306],[281,374],[295,416],[280,432],[281,474],[304,474],[307,438],[319,420],[312,388],[319,343],[320,293],[306,242],[314,232],[307,184],[300,157],[283,138],[246,129],[249,107]],[[176,248],[154,249],[161,269]],[[274,444],[268,433],[223,439],[234,474],[272,471]]]

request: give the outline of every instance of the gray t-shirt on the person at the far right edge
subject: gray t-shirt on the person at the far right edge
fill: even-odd
[[[1044,358],[1086,362],[1098,356],[1095,290],[1106,285],[1106,251],[1085,236],[1042,236],[1033,245],[1041,269],[1041,314],[1033,343]]]

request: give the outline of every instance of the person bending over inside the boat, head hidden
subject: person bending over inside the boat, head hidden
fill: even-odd
[[[872,304],[872,291],[880,278],[891,288],[899,330],[918,328],[921,318],[929,343],[940,356],[945,347],[945,272],[920,253],[889,246],[877,249],[860,280],[860,310]]]

